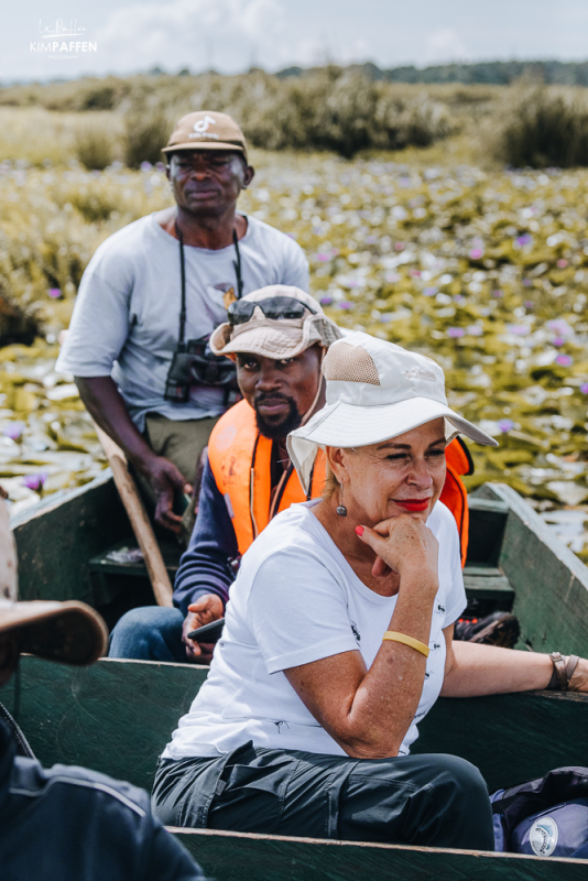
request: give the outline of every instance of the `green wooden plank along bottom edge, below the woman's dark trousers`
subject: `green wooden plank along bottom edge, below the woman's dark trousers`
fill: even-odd
[[[217,881],[584,881],[582,860],[174,829]]]

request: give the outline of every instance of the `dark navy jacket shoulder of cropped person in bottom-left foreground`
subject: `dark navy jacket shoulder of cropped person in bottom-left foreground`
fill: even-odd
[[[142,790],[85,768],[45,770],[15,757],[1,724],[0,755],[3,881],[204,881]]]

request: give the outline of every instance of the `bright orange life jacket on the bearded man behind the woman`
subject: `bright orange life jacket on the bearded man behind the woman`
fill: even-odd
[[[231,406],[215,425],[208,442],[208,461],[219,491],[225,497],[237,535],[239,553],[244,554],[270,522],[272,442],[258,432],[255,413],[247,401]],[[459,475],[468,474],[470,460],[459,440],[446,449],[447,477],[440,500],[453,512],[461,541],[461,565],[468,547],[468,499]],[[282,485],[274,513],[294,502],[317,499],[325,486],[325,454],[318,450],[311,480],[304,492],[294,469]]]

